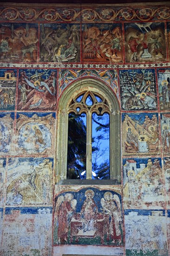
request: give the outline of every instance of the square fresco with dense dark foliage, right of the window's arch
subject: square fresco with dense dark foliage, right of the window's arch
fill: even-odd
[[[123,110],[157,109],[154,69],[119,70],[119,82]]]

